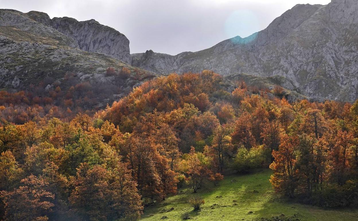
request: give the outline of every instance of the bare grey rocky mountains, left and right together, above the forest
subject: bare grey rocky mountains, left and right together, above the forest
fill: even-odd
[[[332,0],[328,5],[297,4],[267,28],[246,38],[236,36],[202,51],[172,56],[152,50],[130,54],[125,35],[94,19],[50,19],[43,12],[3,9],[0,10],[0,44],[3,45],[0,86],[19,87],[23,82],[19,74],[24,75],[26,65],[41,69],[41,73],[72,68],[86,76],[103,74],[104,67],[112,66],[116,70],[129,67],[132,73],[138,67],[150,75],[211,69],[231,79],[242,76],[267,78],[265,82],[281,79],[280,85],[287,90],[313,100],[353,101],[358,98],[357,14],[355,0]],[[12,53],[19,48],[22,54]],[[55,53],[45,52],[51,49]],[[40,62],[37,58],[41,58]],[[16,65],[15,60],[21,64]],[[48,65],[38,68],[38,63]]]

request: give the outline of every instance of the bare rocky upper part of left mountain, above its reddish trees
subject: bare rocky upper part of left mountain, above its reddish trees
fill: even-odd
[[[144,81],[139,76],[155,77],[128,61],[125,35],[95,20],[50,19],[38,11],[0,9],[0,88],[24,90],[47,79],[44,87],[62,84],[66,89],[70,85],[63,85],[64,76],[72,73],[80,82],[119,88],[112,95],[125,94]],[[128,68],[137,77],[117,81],[106,73],[108,67],[117,73]]]

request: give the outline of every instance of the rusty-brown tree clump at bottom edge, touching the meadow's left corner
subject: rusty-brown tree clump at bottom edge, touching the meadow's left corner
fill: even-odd
[[[118,162],[113,170],[81,164],[73,186],[69,201],[87,219],[139,219],[142,210],[140,196],[125,164]]]

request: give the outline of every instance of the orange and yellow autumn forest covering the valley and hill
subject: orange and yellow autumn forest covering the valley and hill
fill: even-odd
[[[181,188],[195,196],[263,168],[283,198],[358,205],[358,102],[289,102],[280,86],[203,71],[146,81],[101,109],[109,92],[74,79],[0,92],[4,221],[138,220]]]

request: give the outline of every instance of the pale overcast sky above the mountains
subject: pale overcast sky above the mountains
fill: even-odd
[[[199,51],[267,27],[296,4],[330,0],[0,0],[0,8],[95,19],[130,40],[131,53]]]

